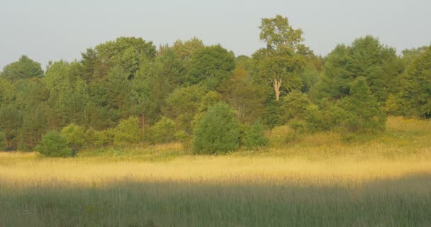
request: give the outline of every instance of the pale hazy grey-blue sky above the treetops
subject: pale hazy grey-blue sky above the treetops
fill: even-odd
[[[431,44],[430,0],[0,0],[0,70],[21,55],[40,62],[79,60],[120,36],[155,45],[197,37],[251,55],[261,18],[280,14],[327,55],[337,44],[374,35],[401,52]]]

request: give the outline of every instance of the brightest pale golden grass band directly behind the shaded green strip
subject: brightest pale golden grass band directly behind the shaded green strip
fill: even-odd
[[[255,182],[282,184],[362,184],[376,179],[431,173],[431,158],[398,160],[332,157],[184,156],[165,162],[106,161],[98,158],[45,159],[35,153],[0,153],[0,179],[30,186],[63,182]]]

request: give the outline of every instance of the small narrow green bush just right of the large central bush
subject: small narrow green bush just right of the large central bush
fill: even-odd
[[[264,125],[261,121],[256,121],[247,127],[244,143],[247,150],[263,148],[268,145],[269,140],[264,136]]]

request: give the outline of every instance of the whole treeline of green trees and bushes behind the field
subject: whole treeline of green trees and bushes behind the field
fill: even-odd
[[[430,46],[398,56],[366,36],[319,57],[287,18],[259,28],[266,48],[251,57],[198,38],[156,48],[133,37],[45,72],[23,56],[0,73],[0,150],[180,141],[215,153],[267,145],[264,129],[280,125],[349,136],[384,131],[388,114],[431,118]]]

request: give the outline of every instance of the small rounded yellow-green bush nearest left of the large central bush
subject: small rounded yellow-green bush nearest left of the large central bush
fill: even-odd
[[[152,143],[170,143],[175,139],[175,123],[167,117],[162,117],[148,130],[148,137]]]

